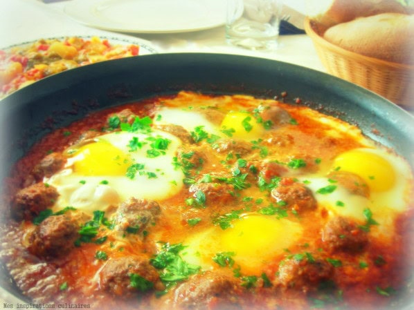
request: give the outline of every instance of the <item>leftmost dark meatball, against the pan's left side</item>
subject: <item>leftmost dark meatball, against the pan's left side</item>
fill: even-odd
[[[21,189],[14,197],[12,213],[17,220],[31,220],[55,204],[57,189],[42,182]]]

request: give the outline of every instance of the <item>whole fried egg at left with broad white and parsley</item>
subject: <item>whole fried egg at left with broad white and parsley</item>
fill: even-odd
[[[60,194],[55,209],[105,211],[129,197],[165,200],[183,186],[174,167],[179,140],[170,133],[115,132],[69,147],[64,169],[45,180]]]

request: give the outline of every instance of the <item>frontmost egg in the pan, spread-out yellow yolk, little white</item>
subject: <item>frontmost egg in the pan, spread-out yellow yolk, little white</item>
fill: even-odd
[[[183,242],[188,246],[183,258],[208,270],[217,267],[213,260],[217,254],[226,253],[234,260],[234,267],[257,275],[273,258],[295,244],[302,234],[303,228],[296,222],[246,213],[225,230],[213,226],[188,236]],[[286,235],[289,238],[285,238]]]

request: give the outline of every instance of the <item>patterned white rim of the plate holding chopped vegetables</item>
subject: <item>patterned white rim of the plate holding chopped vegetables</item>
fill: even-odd
[[[91,35],[65,35],[64,37],[47,37],[47,38],[39,38],[39,39],[46,39],[46,40],[57,39],[57,40],[62,41],[64,39],[70,38],[70,37],[78,37],[78,38],[82,38],[82,39],[85,39],[85,40],[90,40],[93,36],[91,36]],[[150,43],[150,41],[147,41],[147,40],[144,40],[144,39],[140,39],[140,38],[136,38],[136,37],[130,37],[130,36],[127,36],[127,35],[125,35],[125,36],[124,35],[117,35],[116,37],[111,37],[111,36],[107,36],[107,35],[96,35],[95,37],[98,37],[101,40],[107,39],[109,41],[109,43],[111,43],[111,45],[123,45],[123,46],[125,46],[125,45],[129,45],[129,44],[135,44],[135,45],[139,46],[138,55],[158,54],[158,51],[156,50],[156,48],[154,48],[154,46],[152,46],[152,43]],[[7,51],[10,48],[25,48],[26,46],[30,46],[33,43],[39,41],[39,39],[13,44],[13,45],[5,47],[5,48],[0,48],[0,50],[6,50]]]

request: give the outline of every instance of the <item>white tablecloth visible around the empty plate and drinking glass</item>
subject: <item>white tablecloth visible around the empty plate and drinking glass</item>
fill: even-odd
[[[51,1],[51,0],[49,0]],[[64,13],[71,0],[44,3],[42,0],[0,0],[0,48],[48,37],[106,35],[116,32],[84,26]],[[85,0],[87,1],[87,0]],[[285,1],[296,10],[304,10],[304,0]],[[285,61],[325,72],[307,35],[282,35],[275,51],[245,50],[226,43],[224,26],[174,34],[123,34],[146,39],[159,52],[215,52],[249,55]]]

